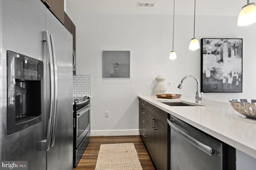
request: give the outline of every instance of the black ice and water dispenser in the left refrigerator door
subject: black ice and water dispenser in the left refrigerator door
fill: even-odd
[[[42,121],[43,62],[7,51],[7,134]]]

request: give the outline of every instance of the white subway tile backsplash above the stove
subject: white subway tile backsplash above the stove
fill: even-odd
[[[73,76],[73,97],[92,96],[91,75]]]

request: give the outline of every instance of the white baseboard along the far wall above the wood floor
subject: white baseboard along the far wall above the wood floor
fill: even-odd
[[[102,130],[102,131],[90,131],[90,136],[129,136],[140,135],[138,129],[134,130]]]

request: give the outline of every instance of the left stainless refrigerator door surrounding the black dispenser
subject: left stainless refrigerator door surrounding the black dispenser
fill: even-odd
[[[6,55],[10,50],[43,60],[46,8],[39,0],[1,0],[0,16],[0,160],[24,160],[28,161],[29,170],[45,170],[46,152],[40,143],[46,136],[44,104],[42,121],[7,135],[7,100],[12,99],[7,96],[10,87],[7,87]]]

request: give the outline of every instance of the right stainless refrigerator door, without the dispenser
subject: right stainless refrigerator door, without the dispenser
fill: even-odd
[[[72,105],[72,35],[49,10],[46,11],[47,31],[54,39],[57,64],[56,132],[47,151],[47,169],[72,170],[73,105]],[[54,130],[54,128],[53,128]],[[53,143],[54,141],[54,143]]]

